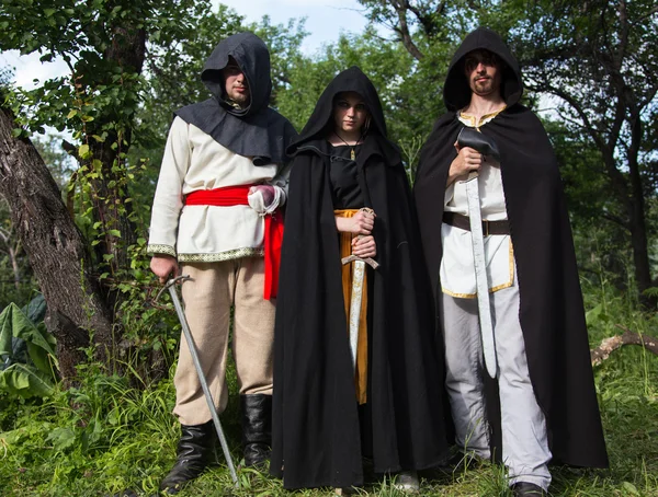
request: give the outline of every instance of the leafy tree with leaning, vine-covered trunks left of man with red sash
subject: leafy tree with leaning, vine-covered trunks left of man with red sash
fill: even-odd
[[[128,157],[133,142],[156,136],[139,132],[149,126],[138,117],[149,92],[145,61],[152,53],[161,56],[159,61],[174,63],[162,54],[185,41],[200,47],[197,23],[220,37],[237,28],[240,19],[226,9],[213,14],[208,0],[3,2],[0,49],[38,51],[42,60],[59,57],[70,69],[18,97],[4,92],[0,113],[0,190],[47,300],[46,323],[57,338],[65,378],[72,378],[76,365],[86,360],[80,349],[88,345],[98,359],[114,363],[124,334],[121,302],[147,282],[138,257],[145,240],[137,234],[129,193],[143,164]],[[154,81],[156,76],[154,71]],[[46,125],[73,137],[66,145],[77,161],[68,189],[89,239],[73,223],[27,138]]]

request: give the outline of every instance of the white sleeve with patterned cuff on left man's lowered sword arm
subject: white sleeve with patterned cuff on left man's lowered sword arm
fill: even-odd
[[[175,117],[169,129],[154,198],[148,254],[174,256],[178,223],[183,208],[183,182],[190,167],[188,123]]]

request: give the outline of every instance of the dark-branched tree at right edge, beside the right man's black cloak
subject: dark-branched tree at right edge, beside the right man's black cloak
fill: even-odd
[[[656,235],[646,206],[658,186],[650,146],[658,83],[649,77],[658,69],[657,27],[650,1],[595,0],[587,9],[561,1],[535,2],[510,33],[530,88],[558,97],[560,120],[598,149],[614,204],[605,217],[627,230],[640,292],[653,284],[648,240]]]

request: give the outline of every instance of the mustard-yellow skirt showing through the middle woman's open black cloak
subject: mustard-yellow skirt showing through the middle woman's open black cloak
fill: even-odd
[[[339,209],[333,213],[342,218],[351,218],[359,209]],[[352,233],[340,233],[340,257],[352,254]],[[348,333],[350,331],[350,302],[352,301],[352,267],[353,264],[342,266],[343,301]],[[363,297],[361,299],[361,313],[359,316],[359,339],[356,344],[356,371],[354,372],[356,386],[356,401],[365,404],[367,400],[367,278],[363,279]]]

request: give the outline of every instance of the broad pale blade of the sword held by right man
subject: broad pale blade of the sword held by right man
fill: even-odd
[[[483,354],[489,377],[496,378],[496,339],[494,337],[494,323],[489,303],[489,281],[487,278],[487,262],[485,256],[485,239],[483,234],[483,219],[480,212],[479,190],[477,176],[466,182],[466,197],[468,199],[468,219],[470,221],[470,238],[473,240],[473,258],[475,262],[475,285],[477,289],[477,310],[479,315],[480,335],[483,339]]]

